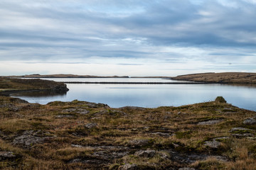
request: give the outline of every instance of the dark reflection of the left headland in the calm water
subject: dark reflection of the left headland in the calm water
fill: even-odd
[[[13,94],[12,96],[29,96],[29,97],[53,97],[53,96],[65,96],[66,91],[31,91]]]

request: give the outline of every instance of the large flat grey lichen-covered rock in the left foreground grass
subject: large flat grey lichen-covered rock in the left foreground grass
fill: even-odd
[[[45,140],[50,139],[49,132],[41,130],[26,130],[21,136],[14,138],[14,145],[21,145],[24,148],[29,148],[34,144],[43,143]]]

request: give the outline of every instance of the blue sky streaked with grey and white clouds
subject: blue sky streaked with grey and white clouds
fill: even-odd
[[[256,72],[256,0],[1,0],[0,75]]]

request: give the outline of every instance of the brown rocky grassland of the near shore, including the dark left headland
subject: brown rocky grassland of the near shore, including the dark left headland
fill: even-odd
[[[1,79],[0,85],[5,95],[64,87],[14,79]],[[0,96],[0,169],[252,170],[255,116],[222,97],[180,107],[110,108]]]

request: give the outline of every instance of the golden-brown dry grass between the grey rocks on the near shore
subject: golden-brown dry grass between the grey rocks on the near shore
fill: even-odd
[[[11,111],[4,104],[18,107]],[[115,169],[122,164],[137,164],[140,169],[166,169],[193,166],[196,169],[253,169],[255,167],[256,146],[253,138],[231,137],[230,129],[235,127],[251,128],[242,124],[245,118],[255,116],[255,112],[236,108],[227,103],[198,103],[181,107],[159,107],[144,109],[107,108],[97,106],[91,108],[87,102],[53,102],[48,105],[17,103],[14,99],[0,96],[0,152],[14,152],[18,161],[0,161],[4,169]],[[71,118],[56,118],[65,115],[66,108],[84,108],[90,113],[68,113]],[[228,111],[225,111],[225,109]],[[115,110],[115,111],[113,111]],[[102,112],[103,111],[103,112]],[[8,115],[8,116],[7,116]],[[215,125],[197,125],[198,122],[222,119]],[[97,123],[95,128],[85,128],[87,123]],[[41,130],[50,133],[50,139],[34,144],[29,149],[15,146],[12,141],[25,130]],[[254,132],[255,133],[255,132]],[[158,135],[159,134],[159,135]],[[166,136],[164,136],[166,135]],[[229,136],[220,141],[219,149],[211,149],[204,145],[214,137]],[[149,140],[144,147],[132,147],[132,140]],[[72,147],[72,145],[82,145]],[[99,146],[131,147],[129,154],[119,159],[109,160],[110,164],[69,163],[74,159],[90,159],[102,161],[95,152],[111,150],[93,149]],[[139,149],[154,149],[156,155],[151,158],[135,157]],[[182,164],[172,159],[163,159],[161,152],[174,151],[188,154],[210,154],[225,156],[228,162],[207,159],[194,164]],[[118,149],[113,152],[119,152]]]

